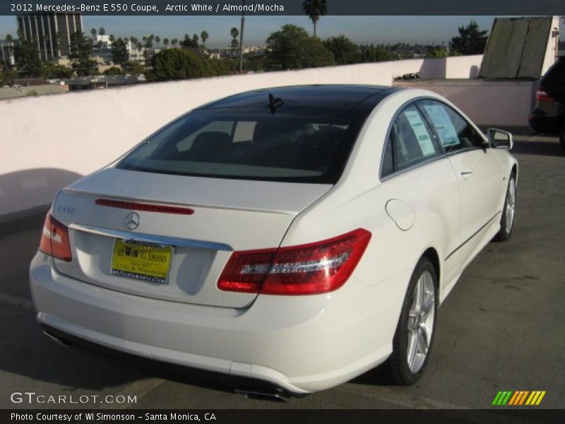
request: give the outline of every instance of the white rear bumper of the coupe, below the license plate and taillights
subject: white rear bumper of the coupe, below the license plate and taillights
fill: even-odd
[[[38,253],[37,319],[105,348],[268,382],[295,394],[333,387],[386,360],[409,276],[328,295],[258,296],[246,309],[142,298],[63,276]]]

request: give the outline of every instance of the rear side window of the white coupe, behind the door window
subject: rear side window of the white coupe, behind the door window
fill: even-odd
[[[424,117],[415,105],[406,107],[394,120],[383,152],[381,177],[439,155]]]

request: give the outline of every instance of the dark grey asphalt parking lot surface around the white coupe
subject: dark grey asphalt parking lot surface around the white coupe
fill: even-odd
[[[246,399],[59,346],[35,322],[28,266],[40,228],[31,228],[0,235],[0,408],[490,408],[499,390],[545,390],[537,408],[564,408],[565,150],[557,139],[529,136],[516,137],[513,153],[513,237],[490,243],[463,273],[439,310],[431,360],[413,387],[381,386],[367,374],[302,399]],[[66,403],[13,403],[14,392],[26,391]],[[84,395],[87,403],[68,403]],[[136,403],[100,403],[107,395]]]

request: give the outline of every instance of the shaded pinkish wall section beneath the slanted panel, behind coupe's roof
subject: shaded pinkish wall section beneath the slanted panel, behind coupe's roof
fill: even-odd
[[[481,126],[528,126],[536,81],[417,81],[396,86],[422,88],[443,95]]]

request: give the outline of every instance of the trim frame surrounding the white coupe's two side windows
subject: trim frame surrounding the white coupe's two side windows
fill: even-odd
[[[400,107],[398,107],[398,110],[397,110],[397,111],[395,112],[395,114],[393,115],[393,118],[391,119],[391,122],[389,122],[389,124],[388,124],[388,129],[387,129],[387,131],[386,131],[386,136],[385,136],[384,143],[383,143],[383,149],[382,149],[382,151],[381,151],[381,160],[380,160],[380,165],[379,165],[379,181],[380,181],[380,182],[386,182],[386,181],[388,181],[388,179],[391,179],[391,178],[393,178],[393,177],[397,177],[398,175],[402,175],[402,174],[405,173],[405,172],[409,172],[409,171],[411,171],[411,170],[415,170],[417,167],[425,166],[425,165],[428,165],[429,163],[434,163],[434,162],[436,162],[436,160],[439,160],[439,159],[449,158],[449,157],[451,157],[451,156],[453,156],[453,155],[458,155],[458,154],[460,154],[460,153],[466,153],[466,152],[475,151],[475,150],[484,150],[484,147],[477,147],[477,146],[475,146],[475,147],[463,148],[463,149],[458,150],[458,151],[446,153],[446,151],[444,150],[444,146],[441,146],[441,143],[439,143],[439,147],[440,147],[440,149],[441,149],[441,153],[439,153],[439,155],[436,155],[436,156],[434,156],[433,158],[429,158],[429,159],[427,159],[427,160],[422,160],[422,162],[415,163],[414,165],[411,165],[411,166],[409,166],[409,167],[405,167],[405,168],[403,168],[402,170],[394,171],[394,172],[391,172],[391,173],[388,174],[388,175],[383,176],[384,152],[385,152],[385,150],[386,150],[386,143],[388,143],[388,138],[389,138],[389,136],[391,135],[391,129],[392,129],[392,127],[393,127],[393,124],[394,124],[394,122],[396,121],[396,118],[398,118],[398,115],[399,115],[401,112],[403,112],[403,110],[405,110],[405,108],[408,107],[408,105],[414,103],[414,104],[415,104],[415,107],[417,107],[418,110],[420,110],[420,107],[419,107],[418,105],[416,105],[416,102],[419,102],[419,101],[421,101],[421,100],[433,100],[434,102],[439,102],[439,103],[441,103],[442,105],[445,105],[446,107],[449,107],[451,110],[453,110],[454,112],[456,112],[456,113],[461,117],[461,119],[464,119],[465,122],[467,122],[470,126],[472,126],[472,128],[475,129],[475,131],[477,131],[478,134],[480,134],[480,135],[482,136],[482,131],[480,131],[480,129],[478,129],[477,126],[475,126],[475,124],[472,124],[472,122],[469,122],[468,119],[466,119],[465,117],[461,116],[461,114],[460,114],[457,110],[453,109],[453,107],[451,107],[450,105],[448,105],[446,102],[443,102],[443,101],[441,101],[441,100],[439,100],[439,99],[431,98],[431,97],[428,97],[428,96],[420,96],[420,97],[417,97],[417,98],[412,98],[412,99],[408,100],[407,102],[404,102],[402,105],[400,105]],[[426,119],[426,122],[427,122],[427,118],[424,117],[424,119]],[[436,139],[436,132],[435,132],[435,130],[434,130],[433,127],[432,127],[432,131],[434,132],[434,143],[437,143],[437,141],[435,141],[435,139]],[[484,139],[484,136],[482,136],[482,138]],[[486,140],[485,140],[485,141],[486,141]],[[490,144],[487,144],[487,146],[488,146],[488,148],[490,148]],[[394,153],[393,153],[393,154],[394,154]]]

